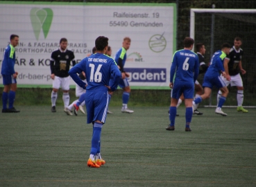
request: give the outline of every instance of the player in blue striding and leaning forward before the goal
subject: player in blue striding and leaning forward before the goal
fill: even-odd
[[[198,98],[196,98],[193,102],[194,109],[196,108],[196,104],[201,103],[206,98],[209,98],[212,93],[212,87],[217,87],[219,90],[221,90],[222,94],[219,99],[218,106],[215,109],[216,114],[221,114],[221,116],[227,116],[228,114],[225,114],[221,107],[225,103],[225,98],[228,96],[228,88],[225,86],[225,82],[221,79],[219,72],[223,75],[223,77],[226,76],[225,69],[223,66],[223,61],[230,53],[230,44],[225,43],[221,46],[221,50],[216,51],[214,55],[212,56],[212,60],[210,62],[210,66],[207,69],[205,73],[205,77],[203,79],[203,87],[205,93],[203,95],[200,95]]]

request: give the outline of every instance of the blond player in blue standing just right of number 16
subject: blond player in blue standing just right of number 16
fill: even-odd
[[[128,77],[130,76],[129,73],[126,73],[124,71],[123,66],[126,63],[126,51],[130,48],[130,37],[123,38],[123,46],[117,51],[114,60],[117,62],[117,65],[119,66],[119,69],[121,71],[121,80],[119,82],[119,87],[123,89],[123,107],[121,108],[121,112],[123,113],[133,113],[134,111],[131,109],[128,109],[128,101],[130,98],[130,85],[128,82]],[[110,80],[112,82],[112,78]],[[112,96],[112,93],[110,93],[110,98]]]

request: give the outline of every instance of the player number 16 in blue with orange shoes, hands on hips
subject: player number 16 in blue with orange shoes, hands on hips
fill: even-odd
[[[87,110],[87,123],[92,123],[92,147],[87,161],[87,166],[99,168],[105,164],[101,158],[101,128],[105,123],[108,111],[108,92],[115,91],[121,78],[121,73],[112,57],[105,55],[108,50],[108,37],[97,37],[95,40],[97,53],[85,57],[76,64],[69,75],[80,87],[85,89],[85,103]],[[88,82],[80,80],[77,73],[85,72]],[[113,76],[113,84],[109,84],[110,76]]]

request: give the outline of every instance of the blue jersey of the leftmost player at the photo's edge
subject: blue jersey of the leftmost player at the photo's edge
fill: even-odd
[[[15,73],[15,48],[10,44],[6,47],[3,53],[3,62],[2,62],[2,75],[12,75]]]

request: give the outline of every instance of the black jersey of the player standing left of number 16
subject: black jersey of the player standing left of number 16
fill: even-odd
[[[74,60],[75,55],[72,51],[65,50],[64,52],[60,49],[51,53],[51,74],[60,77],[67,78],[69,76],[69,66],[72,61],[73,66],[76,64]]]

